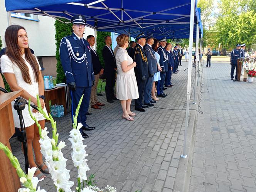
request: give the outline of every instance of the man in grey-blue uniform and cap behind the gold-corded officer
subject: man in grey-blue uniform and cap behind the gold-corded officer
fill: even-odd
[[[151,90],[153,85],[153,77],[154,71],[157,71],[157,57],[155,56],[155,52],[152,49],[152,45],[154,43],[153,34],[147,36],[147,43],[144,46],[144,51],[148,60],[148,78],[146,79],[145,88],[144,88],[144,105],[154,106],[153,103],[157,103],[153,101],[151,98]],[[155,68],[155,70],[153,69]]]

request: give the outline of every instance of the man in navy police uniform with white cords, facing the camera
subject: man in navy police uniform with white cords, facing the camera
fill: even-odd
[[[89,136],[83,130],[94,130],[86,124],[86,113],[89,107],[91,87],[94,85],[93,63],[91,60],[90,45],[83,38],[86,19],[83,15],[75,15],[71,19],[73,33],[62,38],[60,45],[60,57],[67,85],[71,90],[72,118],[82,95],[84,95],[77,123],[83,124],[80,132],[83,138]],[[73,119],[72,119],[73,121]]]

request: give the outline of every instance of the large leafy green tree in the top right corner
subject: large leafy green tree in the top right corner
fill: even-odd
[[[217,15],[216,41],[224,48],[246,43],[247,48],[256,43],[256,1],[220,0]]]

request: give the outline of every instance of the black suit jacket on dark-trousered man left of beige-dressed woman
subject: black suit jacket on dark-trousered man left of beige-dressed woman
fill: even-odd
[[[111,53],[112,52],[112,53]],[[111,49],[111,51],[108,49],[107,45],[104,46],[103,50],[102,50],[102,56],[104,59],[104,71],[106,73],[109,72],[115,72],[115,68],[116,68],[116,58],[114,56],[114,52]],[[105,73],[105,74],[106,74]],[[107,75],[107,74],[106,74]]]

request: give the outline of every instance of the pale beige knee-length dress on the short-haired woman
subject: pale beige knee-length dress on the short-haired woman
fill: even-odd
[[[121,62],[123,61],[127,61],[128,65],[133,63],[133,59],[128,55],[127,51],[119,47],[116,52],[116,98],[120,100],[138,99],[139,93],[134,68],[123,72],[121,67]]]

